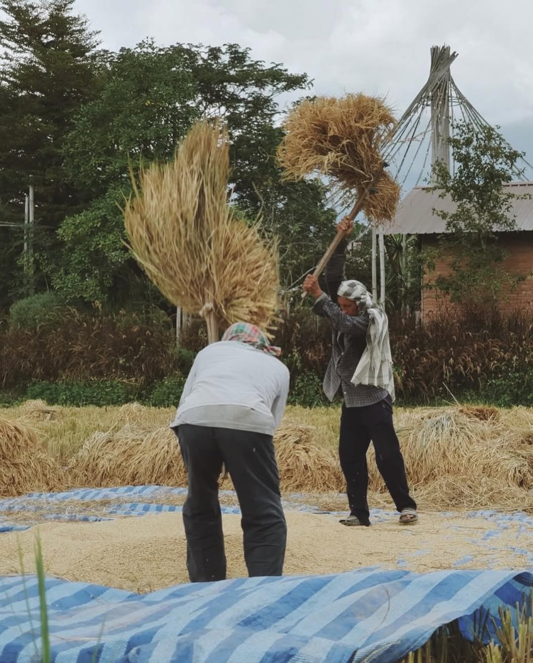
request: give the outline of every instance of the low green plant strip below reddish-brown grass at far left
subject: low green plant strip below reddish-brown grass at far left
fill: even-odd
[[[50,405],[123,405],[136,398],[134,385],[118,380],[91,382],[34,381],[26,389],[26,398],[45,400]]]

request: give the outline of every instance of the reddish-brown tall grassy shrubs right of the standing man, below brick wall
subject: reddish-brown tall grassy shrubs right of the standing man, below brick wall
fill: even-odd
[[[423,327],[412,318],[391,316],[389,322],[397,394],[403,402],[450,399],[448,389],[456,398],[479,397],[489,384],[493,392],[497,384],[500,394],[508,395],[504,400],[509,404],[523,402],[523,394],[511,383],[523,383],[533,364],[530,315],[458,308]]]

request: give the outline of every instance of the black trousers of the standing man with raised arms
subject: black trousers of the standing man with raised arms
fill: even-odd
[[[367,501],[368,467],[366,452],[373,442],[377,469],[398,511],[416,509],[409,495],[405,465],[393,424],[389,400],[359,408],[342,406],[340,416],[339,460],[346,479],[350,513],[369,524]]]

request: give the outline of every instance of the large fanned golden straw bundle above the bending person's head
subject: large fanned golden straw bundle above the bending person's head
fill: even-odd
[[[136,260],[172,304],[214,311],[218,326],[267,330],[279,308],[275,243],[228,205],[229,147],[217,124],[195,124],[173,162],[140,172],[124,223]]]

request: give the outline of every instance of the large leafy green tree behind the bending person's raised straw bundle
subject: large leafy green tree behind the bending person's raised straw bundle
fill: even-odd
[[[130,299],[142,274],[124,249],[119,204],[130,192],[128,164],[171,158],[197,117],[228,124],[234,203],[261,215],[281,237],[283,280],[309,269],[330,239],[333,214],[317,184],[281,181],[275,151],[282,137],[277,97],[308,86],[307,76],[253,60],[237,44],[203,47],[152,41],[122,48],[110,60],[103,90],[77,114],[64,154],[72,181],[91,192],[85,211],[65,219],[54,286],[68,298]],[[307,252],[307,253],[306,253]]]

